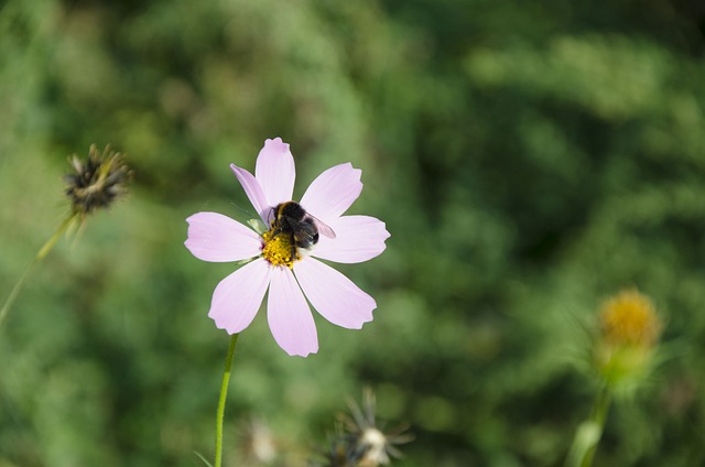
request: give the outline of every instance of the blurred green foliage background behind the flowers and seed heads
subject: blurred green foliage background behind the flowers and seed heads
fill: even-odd
[[[234,265],[192,257],[184,219],[254,217],[228,165],[276,135],[295,196],[350,161],[350,213],[392,237],[339,267],[377,300],[362,330],[316,316],[307,359],[263,313],[242,333],[226,465],[252,419],[305,465],[369,385],[415,434],[395,465],[560,466],[595,397],[584,327],[627,286],[665,362],[595,464],[704,465],[704,30],[698,0],[6,0],[0,298],[67,213],[69,154],[110,143],[135,181],[0,328],[0,466],[212,456],[228,337],[206,314]]]

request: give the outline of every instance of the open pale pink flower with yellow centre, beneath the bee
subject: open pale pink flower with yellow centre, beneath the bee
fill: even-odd
[[[260,235],[217,213],[197,213],[186,219],[185,245],[196,258],[210,262],[252,259],[216,286],[208,312],[216,326],[229,334],[243,330],[268,289],[269,326],[289,355],[305,357],[318,350],[308,303],[330,323],[349,329],[372,321],[375,300],[316,259],[357,263],[387,248],[384,222],[369,216],[343,216],[362,191],[361,171],[350,163],[336,165],[318,175],[304,193],[300,205],[316,222],[324,224],[308,252],[295,247],[296,237],[275,220],[275,207],[291,202],[294,191],[296,173],[289,144],[280,138],[267,140],[257,158],[254,176],[235,164],[230,167],[269,230]]]

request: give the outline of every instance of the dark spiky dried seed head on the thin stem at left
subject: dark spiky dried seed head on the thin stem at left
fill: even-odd
[[[73,155],[68,162],[74,172],[66,174],[64,180],[68,185],[66,195],[70,198],[73,214],[85,217],[95,209],[109,207],[127,193],[132,172],[126,165],[123,155],[110,151],[109,146],[101,154],[91,144],[87,161]]]

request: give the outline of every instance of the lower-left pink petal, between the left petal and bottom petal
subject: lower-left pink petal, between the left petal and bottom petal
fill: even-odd
[[[263,259],[245,264],[220,281],[213,292],[208,316],[229,334],[241,332],[260,308],[269,280],[270,268]]]

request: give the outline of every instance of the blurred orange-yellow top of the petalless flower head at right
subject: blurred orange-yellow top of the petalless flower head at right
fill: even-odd
[[[625,290],[608,300],[600,311],[603,337],[616,346],[651,347],[661,332],[661,322],[646,295]]]

